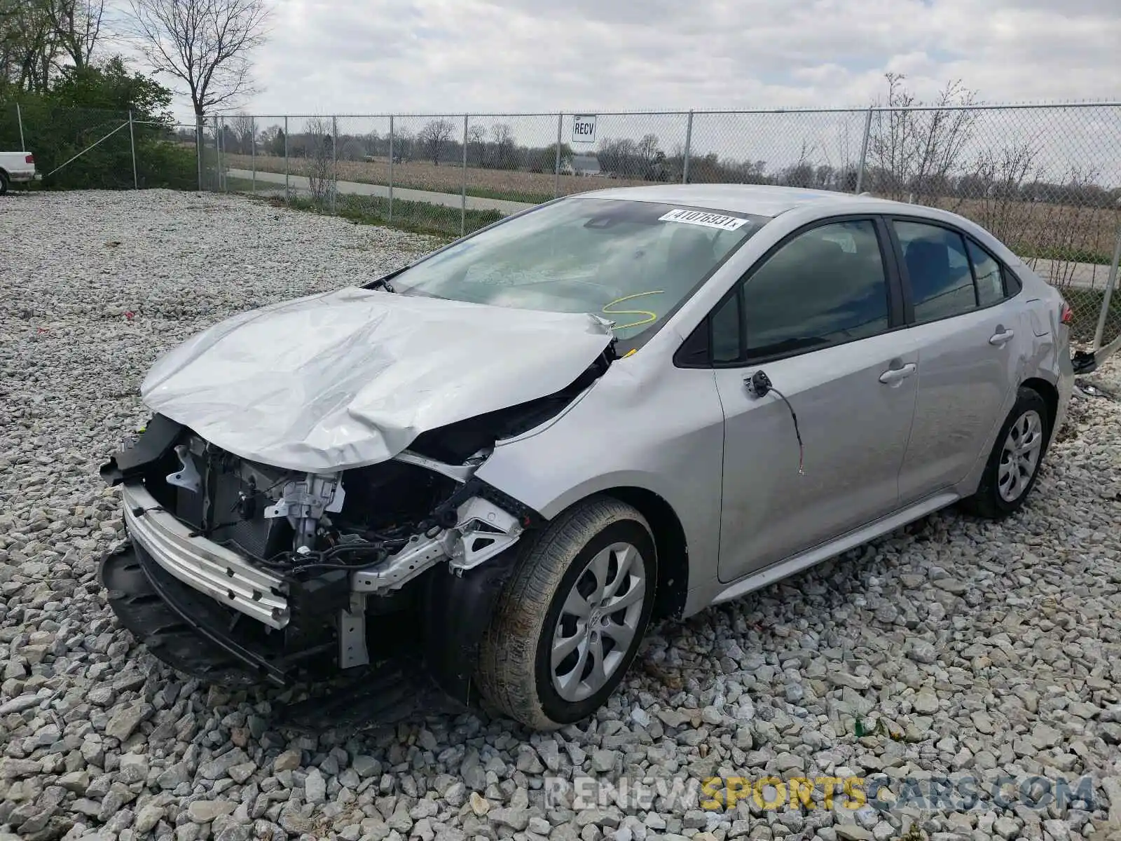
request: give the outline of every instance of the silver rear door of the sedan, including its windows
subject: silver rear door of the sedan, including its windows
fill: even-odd
[[[964,232],[892,218],[908,330],[918,350],[915,423],[899,475],[907,505],[965,478],[1016,399],[1034,331],[1000,262]]]

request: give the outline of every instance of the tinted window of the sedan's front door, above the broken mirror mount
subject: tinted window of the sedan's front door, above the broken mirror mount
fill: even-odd
[[[884,332],[876,223],[833,222],[789,240],[747,278],[742,318],[749,361]]]

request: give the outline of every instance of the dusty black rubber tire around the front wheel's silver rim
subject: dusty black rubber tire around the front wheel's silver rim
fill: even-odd
[[[620,542],[641,555],[645,592],[637,630],[603,687],[566,701],[553,685],[549,643],[565,599],[587,564]],[[554,730],[594,713],[622,682],[641,645],[656,581],[654,536],[634,508],[610,497],[592,497],[558,516],[524,549],[483,635],[476,678],[487,705],[534,730]]]

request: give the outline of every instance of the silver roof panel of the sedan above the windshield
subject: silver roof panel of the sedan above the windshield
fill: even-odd
[[[609,187],[569,197],[621,198],[632,202],[683,204],[729,213],[777,216],[807,205],[821,205],[826,213],[898,211],[899,202],[851,193],[762,184],[659,184],[649,187]],[[916,209],[916,205],[907,205]]]

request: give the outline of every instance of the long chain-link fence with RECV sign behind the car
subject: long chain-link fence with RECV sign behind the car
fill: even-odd
[[[772,184],[934,205],[1063,289],[1074,336],[1121,335],[1121,103],[643,113],[225,115],[0,105],[0,148],[55,186],[274,196],[461,235],[556,196]]]

